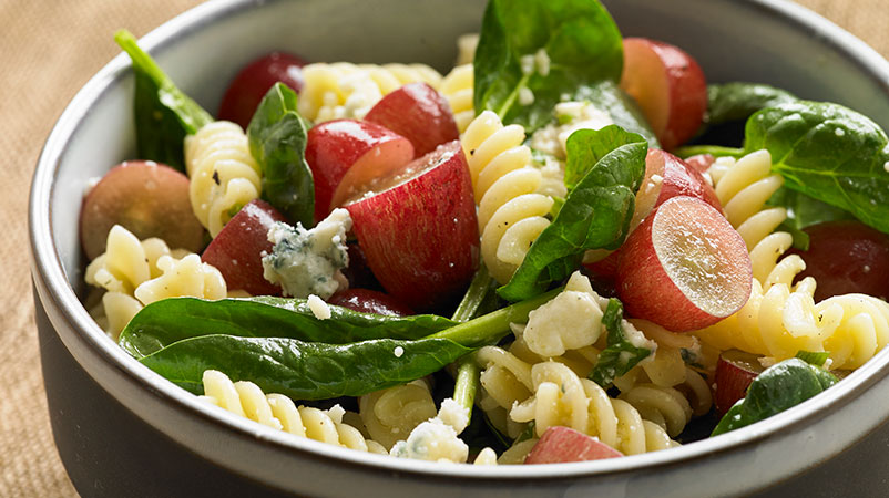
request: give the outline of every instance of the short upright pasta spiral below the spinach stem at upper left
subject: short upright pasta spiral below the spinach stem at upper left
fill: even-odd
[[[212,237],[262,191],[262,169],[241,126],[211,123],[185,137],[192,209]]]

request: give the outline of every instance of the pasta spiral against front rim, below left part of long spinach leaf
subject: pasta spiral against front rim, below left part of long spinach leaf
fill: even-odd
[[[252,382],[232,382],[227,375],[215,370],[204,372],[203,383],[203,401],[251,421],[298,437],[362,452],[388,454],[380,444],[366,439],[360,430],[345,424],[345,411],[339,405],[327,411],[309,406],[297,407],[283,394],[265,394]]]

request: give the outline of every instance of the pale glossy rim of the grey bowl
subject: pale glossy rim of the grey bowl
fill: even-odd
[[[219,19],[237,15],[239,12],[262,3],[274,3],[279,0],[257,2],[255,0],[216,0],[200,4],[155,28],[140,40],[140,45],[152,54],[163,52],[177,40],[200,31],[203,27]],[[730,0],[746,3],[752,8],[772,14],[790,29],[803,30],[820,39],[840,52],[847,60],[858,65],[865,74],[882,86],[889,96],[889,62],[873,49],[852,34],[840,29],[830,21],[786,0]],[[671,452],[654,452],[635,455],[630,459],[550,464],[541,466],[487,466],[441,465],[419,460],[387,458],[380,455],[361,454],[346,450],[333,445],[309,439],[293,437],[238,417],[226,411],[201,402],[196,396],[167,382],[146,366],[132,359],[120,349],[95,324],[79,301],[74,290],[69,286],[60,255],[52,243],[52,206],[50,200],[57,187],[55,173],[60,160],[69,147],[70,137],[91,112],[92,105],[131,71],[126,55],[121,53],[102,68],[74,95],[53,126],[38,159],[33,174],[29,199],[29,238],[32,255],[32,277],[44,305],[54,305],[74,331],[73,338],[63,336],[55,328],[65,346],[71,350],[71,341],[79,341],[89,346],[92,353],[99,354],[104,362],[115,367],[127,380],[137,383],[152,392],[163,403],[171,404],[191,416],[196,416],[213,424],[218,429],[254,437],[256,443],[272,445],[287,452],[299,452],[314,457],[335,460],[337,464],[349,464],[371,470],[389,470],[417,474],[421,477],[487,480],[546,480],[566,477],[615,476],[636,471],[643,468],[687,465],[691,461],[748,448],[781,432],[805,426],[818,417],[816,414],[834,412],[849,401],[866,394],[866,391],[881,377],[889,374],[889,351],[880,351],[873,360],[856,370],[840,382],[840,388],[829,390],[810,398],[779,416],[727,433],[716,438],[708,438],[673,448]],[[42,286],[41,286],[42,283]],[[81,363],[79,361],[79,363]],[[140,414],[135,413],[137,416]]]

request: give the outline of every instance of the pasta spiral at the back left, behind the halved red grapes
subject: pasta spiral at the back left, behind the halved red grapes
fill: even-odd
[[[303,68],[297,110],[310,121],[361,118],[389,92],[422,82],[438,90],[441,74],[426,64],[315,63]]]

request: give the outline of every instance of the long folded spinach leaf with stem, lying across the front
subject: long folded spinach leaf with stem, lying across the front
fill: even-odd
[[[215,369],[234,380],[251,380],[265,391],[298,398],[355,396],[428,375],[476,347],[499,341],[509,333],[511,322],[527,321],[528,313],[558,292],[458,324],[440,317],[387,318],[335,307],[331,318],[318,321],[308,315],[304,302],[279,298],[204,301],[203,305],[193,299],[168,299],[140,311],[133,319],[137,324],[127,326],[122,343],[143,364],[196,393],[204,371]],[[160,303],[165,304],[155,305]],[[186,314],[178,314],[180,304]],[[152,318],[165,322],[147,330],[139,325]],[[226,325],[228,319],[235,324]],[[202,320],[210,323],[201,325]],[[452,326],[439,329],[443,324]],[[399,333],[416,338],[421,331],[413,326],[425,328],[422,333],[439,330],[415,340],[362,340]],[[310,342],[319,339],[326,342]],[[357,342],[330,343],[337,339]]]

